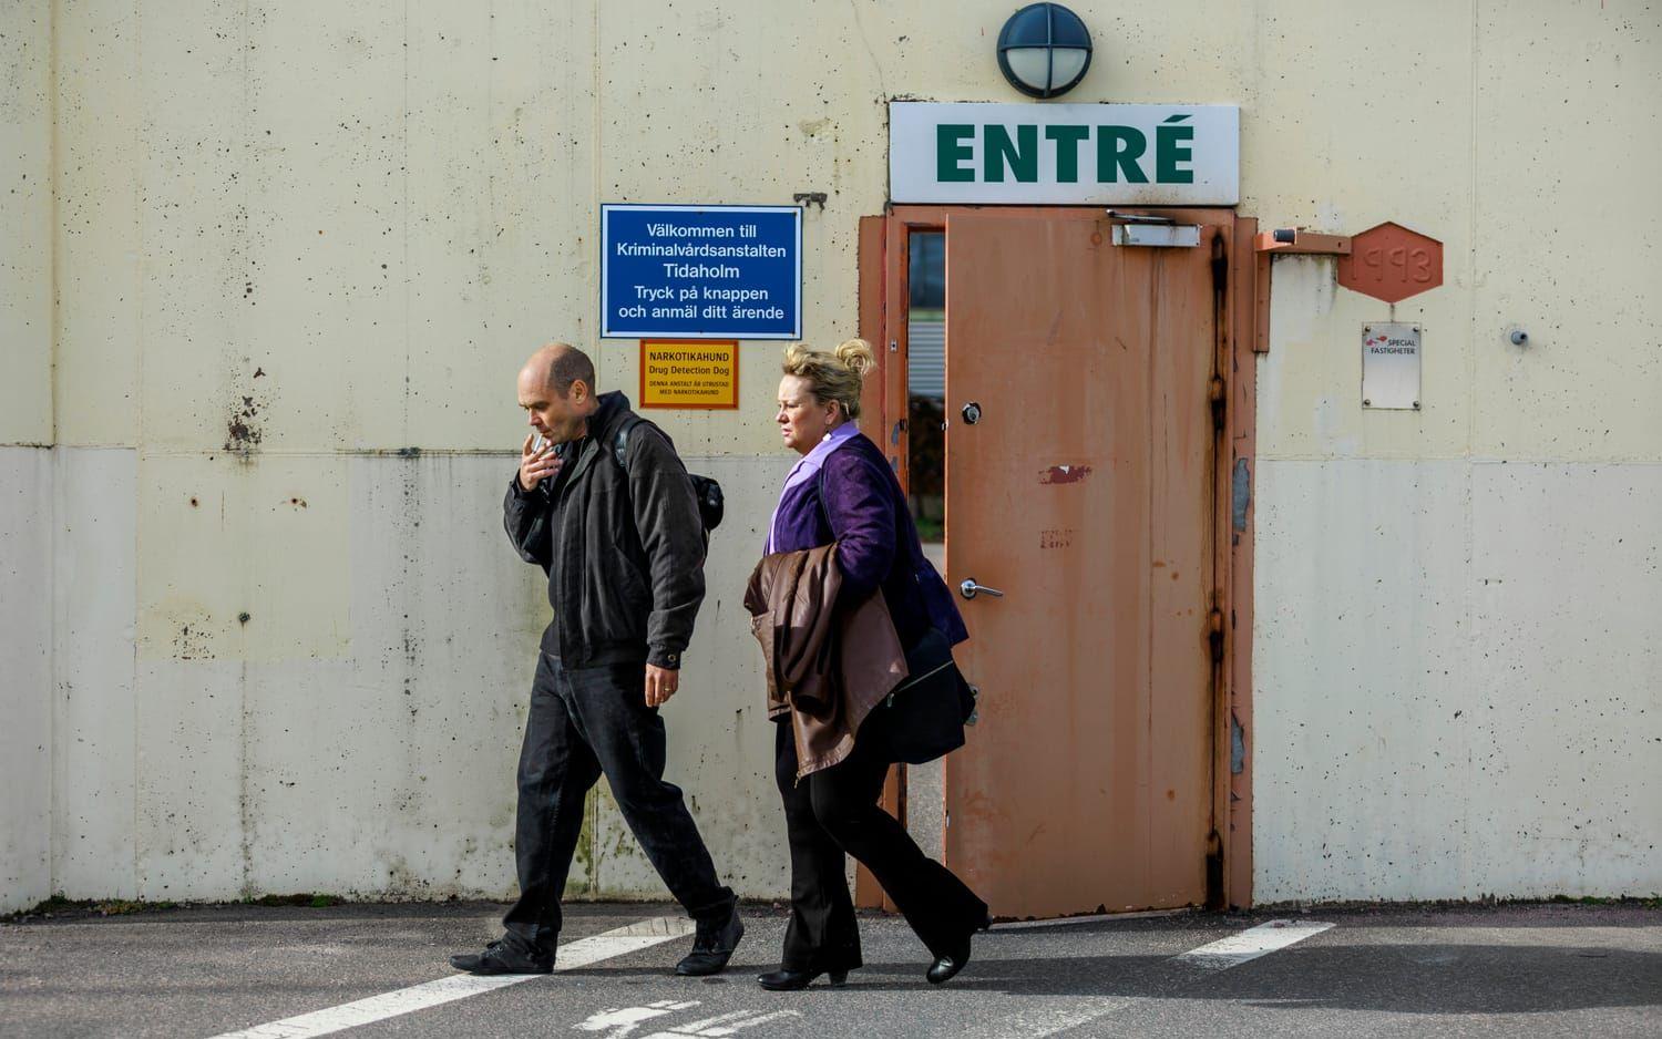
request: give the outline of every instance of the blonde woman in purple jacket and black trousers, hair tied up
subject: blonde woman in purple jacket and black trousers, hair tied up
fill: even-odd
[[[784,482],[768,552],[801,552],[836,544],[838,608],[883,592],[901,647],[931,630],[949,642],[967,638],[952,597],[924,557],[894,472],[859,434],[861,379],[876,366],[871,346],[849,339],[836,352],[793,346],[784,356],[776,422],[784,444],[803,455]],[[969,961],[971,936],[989,924],[987,904],[941,863],[924,856],[891,815],[878,806],[891,758],[873,710],[836,765],[798,780],[789,715],[778,725],[776,780],[784,798],[791,846],[791,921],[778,971],[758,977],[765,989],[801,989],[819,974],[843,984],[861,966],[859,928],[843,854],[871,869],[906,916],[934,963],[926,977],[941,984]]]

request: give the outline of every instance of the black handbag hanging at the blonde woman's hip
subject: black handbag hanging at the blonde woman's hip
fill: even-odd
[[[906,650],[909,675],[871,710],[876,736],[891,761],[922,765],[964,746],[964,723],[976,713],[976,692],[952,660],[946,635],[929,628]]]

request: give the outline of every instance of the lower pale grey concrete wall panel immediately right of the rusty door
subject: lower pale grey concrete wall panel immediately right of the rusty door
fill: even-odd
[[[1463,464],[1260,459],[1255,899],[1466,889],[1466,482]]]

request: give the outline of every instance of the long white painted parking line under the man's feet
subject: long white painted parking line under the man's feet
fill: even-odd
[[[650,949],[655,944],[675,938],[685,938],[691,933],[693,921],[685,918],[656,916],[643,919],[625,928],[607,931],[605,934],[580,938],[568,946],[560,946],[553,969],[555,973],[575,971],[603,959],[612,959],[613,956]],[[327,1036],[331,1032],[357,1027],[361,1024],[386,1021],[387,1017],[399,1017],[401,1014],[409,1014],[430,1006],[467,999],[469,996],[479,996],[480,992],[494,992],[495,989],[504,989],[510,984],[520,984],[524,981],[535,981],[537,977],[542,977],[542,974],[499,974],[495,977],[452,974],[437,981],[414,984],[407,989],[396,989],[392,992],[369,996],[367,999],[342,1002],[341,1006],[299,1014],[296,1017],[284,1017],[283,1021],[273,1021],[269,1024],[256,1024],[254,1027],[238,1032],[224,1032],[221,1036],[214,1036],[213,1039],[307,1039],[309,1036]]]

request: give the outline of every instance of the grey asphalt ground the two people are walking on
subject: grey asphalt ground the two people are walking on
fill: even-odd
[[[0,924],[0,1036],[321,1034],[258,1026],[462,979],[445,958],[494,938],[500,913],[487,903],[196,906],[10,921]],[[778,964],[781,909],[746,906],[745,943],[710,979],[670,974],[691,944],[678,916],[661,904],[570,904],[562,948],[592,963],[331,1034],[1662,1036],[1662,911],[1642,904],[1001,924],[942,987],[924,982],[927,956],[904,921],[866,916],[868,966],[843,989],[821,981],[803,992],[753,981]],[[612,954],[612,936],[630,926],[647,936],[622,941],[645,948]],[[1291,944],[1245,961],[1230,951],[1263,936]],[[396,1009],[407,996],[391,999]]]

